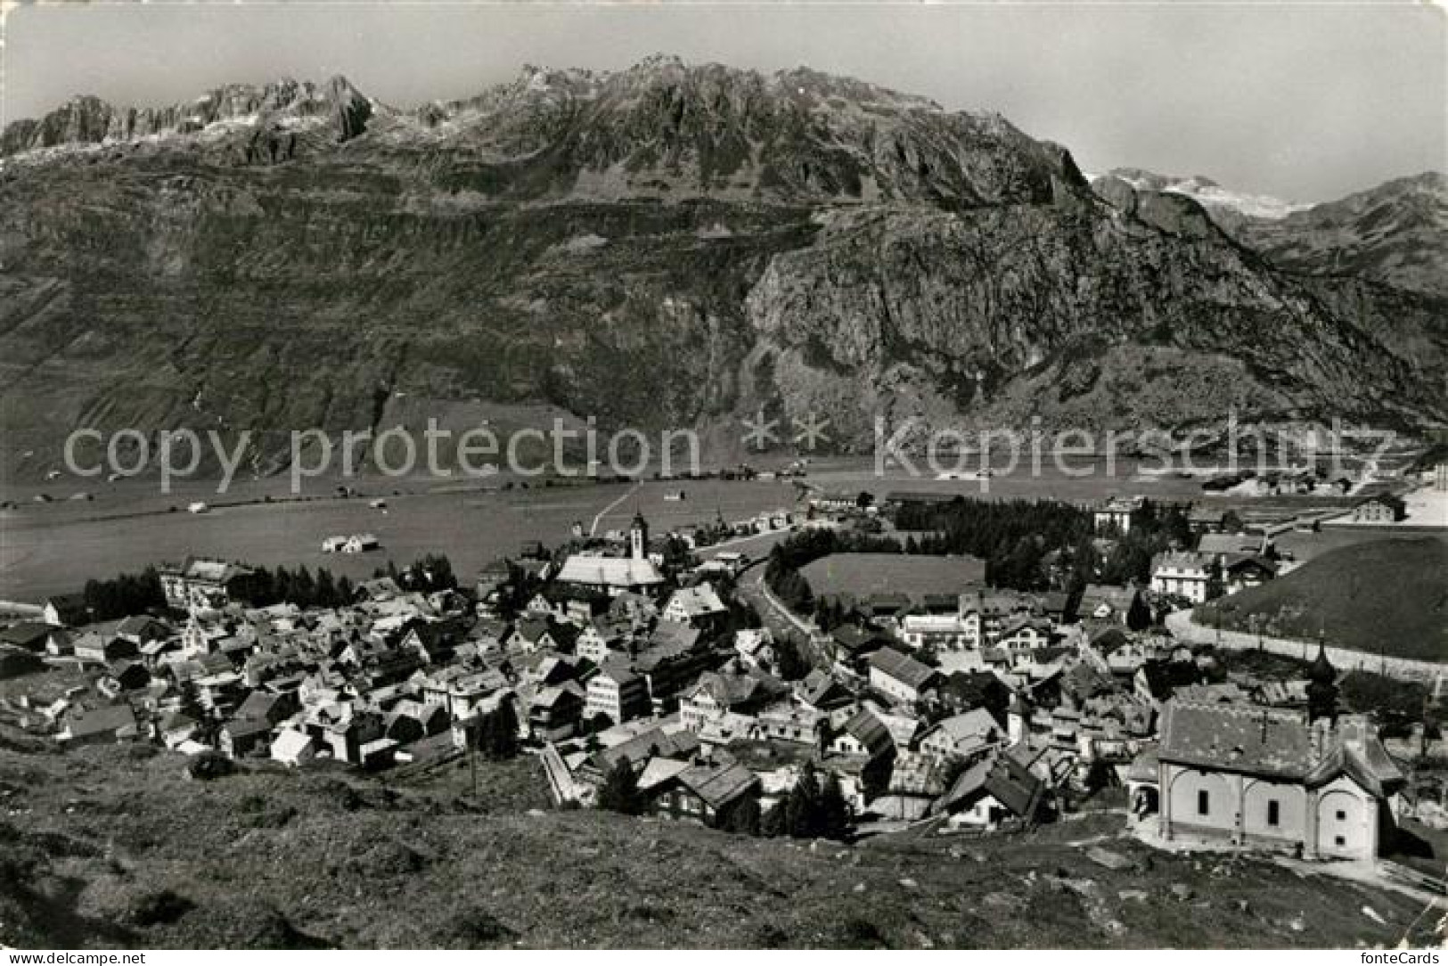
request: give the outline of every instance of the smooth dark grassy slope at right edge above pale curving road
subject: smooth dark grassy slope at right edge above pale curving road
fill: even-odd
[[[1448,543],[1376,540],[1329,550],[1292,574],[1196,610],[1196,621],[1334,647],[1448,662]],[[1253,620],[1258,621],[1254,627]]]

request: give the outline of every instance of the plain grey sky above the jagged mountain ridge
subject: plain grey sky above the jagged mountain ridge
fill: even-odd
[[[847,74],[998,110],[1083,171],[1202,174],[1322,201],[1448,167],[1448,16],[1426,3],[28,3],[4,17],[0,117],[72,94],[161,106],[223,83],[345,74],[398,107],[524,64],[656,52]]]

